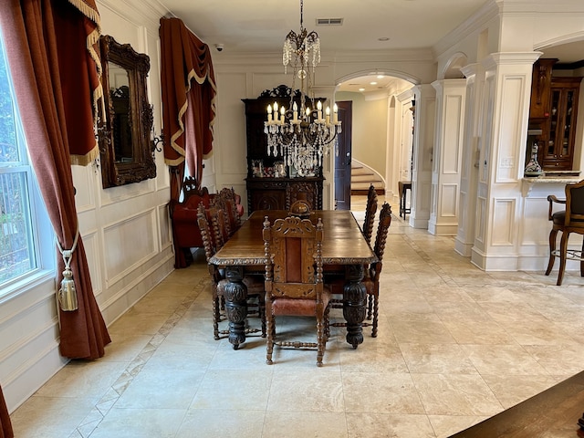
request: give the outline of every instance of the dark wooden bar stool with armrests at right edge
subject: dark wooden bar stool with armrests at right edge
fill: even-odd
[[[568,249],[568,237],[570,233],[584,235],[584,180],[579,183],[566,184],[566,200],[560,200],[555,195],[547,196],[549,211],[547,218],[552,222],[549,233],[549,261],[546,275],[551,273],[556,256],[559,255],[558,286],[561,286],[566,270],[566,260],[579,260],[580,276],[584,276],[584,242],[580,250]],[[566,205],[565,210],[554,213],[554,203]],[[559,250],[556,249],[556,237],[562,232]]]

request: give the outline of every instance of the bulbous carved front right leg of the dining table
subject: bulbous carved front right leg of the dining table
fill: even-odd
[[[347,321],[347,342],[357,349],[363,342],[363,327],[365,319],[365,298],[367,291],[361,283],[363,266],[350,265],[347,267],[347,283],[343,288],[343,316]]]

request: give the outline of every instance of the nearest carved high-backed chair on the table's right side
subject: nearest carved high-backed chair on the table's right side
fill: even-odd
[[[379,224],[377,226],[377,235],[375,236],[375,245],[373,252],[377,256],[377,262],[371,263],[365,270],[365,276],[361,280],[367,291],[367,319],[373,319],[370,323],[363,322],[362,327],[371,327],[371,337],[377,338],[377,328],[379,323],[379,302],[380,302],[380,276],[383,267],[383,254],[385,253],[385,244],[387,234],[391,224],[391,206],[389,203],[383,203],[380,211]],[[343,278],[331,278],[327,284],[333,296],[342,296],[345,280]],[[334,308],[342,308],[343,300],[341,298],[333,299]],[[333,327],[347,327],[346,322],[335,322],[330,324]]]

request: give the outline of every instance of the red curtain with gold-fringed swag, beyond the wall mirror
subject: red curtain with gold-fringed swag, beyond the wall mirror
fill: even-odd
[[[178,200],[185,160],[200,186],[203,158],[213,150],[216,87],[210,48],[182,20],[161,18],[160,37],[164,161]]]

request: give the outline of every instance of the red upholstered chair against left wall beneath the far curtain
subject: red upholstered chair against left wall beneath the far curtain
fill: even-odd
[[[190,187],[188,184],[184,186]],[[182,202],[172,200],[169,203],[169,213],[172,223],[172,244],[174,245],[174,267],[181,268],[191,265],[193,256],[191,248],[203,247],[203,237],[197,224],[197,207],[203,203],[209,207],[211,197],[206,187],[183,190]]]

